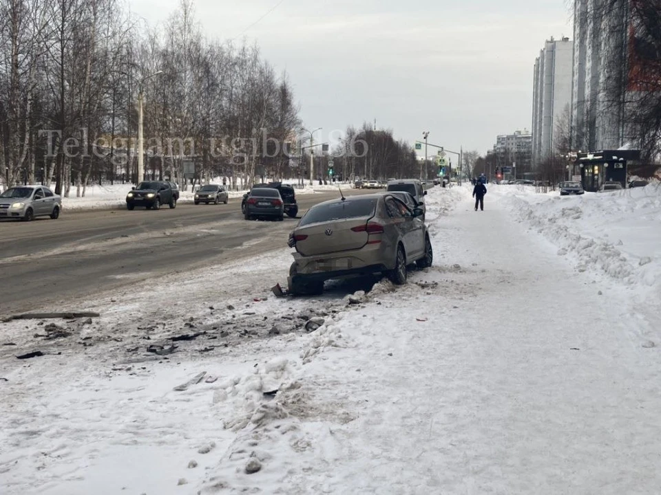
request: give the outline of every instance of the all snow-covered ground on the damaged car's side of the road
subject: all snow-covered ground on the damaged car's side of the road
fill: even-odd
[[[658,493],[658,191],[532,191],[432,189],[404,287],[277,299],[282,249],[3,324],[2,493]]]

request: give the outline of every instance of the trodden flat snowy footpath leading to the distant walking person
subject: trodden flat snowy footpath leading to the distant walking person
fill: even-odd
[[[308,364],[317,400],[354,420],[297,439],[308,452],[278,493],[658,493],[644,322],[492,197],[468,201],[433,222],[435,267],[344,318],[351,349]]]

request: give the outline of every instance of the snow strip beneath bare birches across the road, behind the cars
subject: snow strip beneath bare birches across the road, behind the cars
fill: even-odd
[[[296,181],[285,181],[286,184],[296,185]],[[216,179],[212,184],[222,184],[222,180]],[[342,187],[350,187],[348,184],[339,184]],[[126,205],[126,195],[131,190],[132,184],[89,184],[85,189],[85,197],[76,197],[76,187],[70,190],[69,197],[62,198],[62,205],[65,210],[89,210],[96,208],[119,208]],[[326,190],[336,190],[337,184],[315,183],[313,186],[306,182],[304,188],[297,189],[296,194],[311,194]],[[82,188],[81,188],[82,191]],[[230,199],[241,198],[246,190],[230,191]],[[188,190],[180,190],[179,201],[182,203],[191,203],[193,201],[193,191],[191,186]]]

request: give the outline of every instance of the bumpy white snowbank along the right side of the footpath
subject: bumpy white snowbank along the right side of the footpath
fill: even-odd
[[[519,221],[558,246],[559,256],[576,256],[578,272],[596,269],[629,286],[661,286],[657,184],[578,197],[510,190],[502,198]]]

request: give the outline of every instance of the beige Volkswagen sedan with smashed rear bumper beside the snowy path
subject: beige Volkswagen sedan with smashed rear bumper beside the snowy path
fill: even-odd
[[[422,214],[387,192],[313,206],[289,237],[296,249],[289,292],[319,294],[327,280],[369,274],[406,283],[408,265],[424,268],[433,261],[427,226],[416,220]]]

